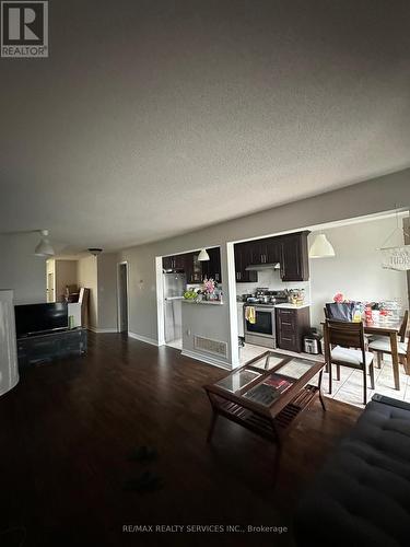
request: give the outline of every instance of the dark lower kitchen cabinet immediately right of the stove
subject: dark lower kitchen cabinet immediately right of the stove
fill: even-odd
[[[311,328],[309,309],[276,307],[277,347],[301,353],[303,337]]]

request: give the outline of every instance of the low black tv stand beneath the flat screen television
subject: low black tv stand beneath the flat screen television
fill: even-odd
[[[86,352],[86,329],[71,328],[17,338],[19,368]]]

